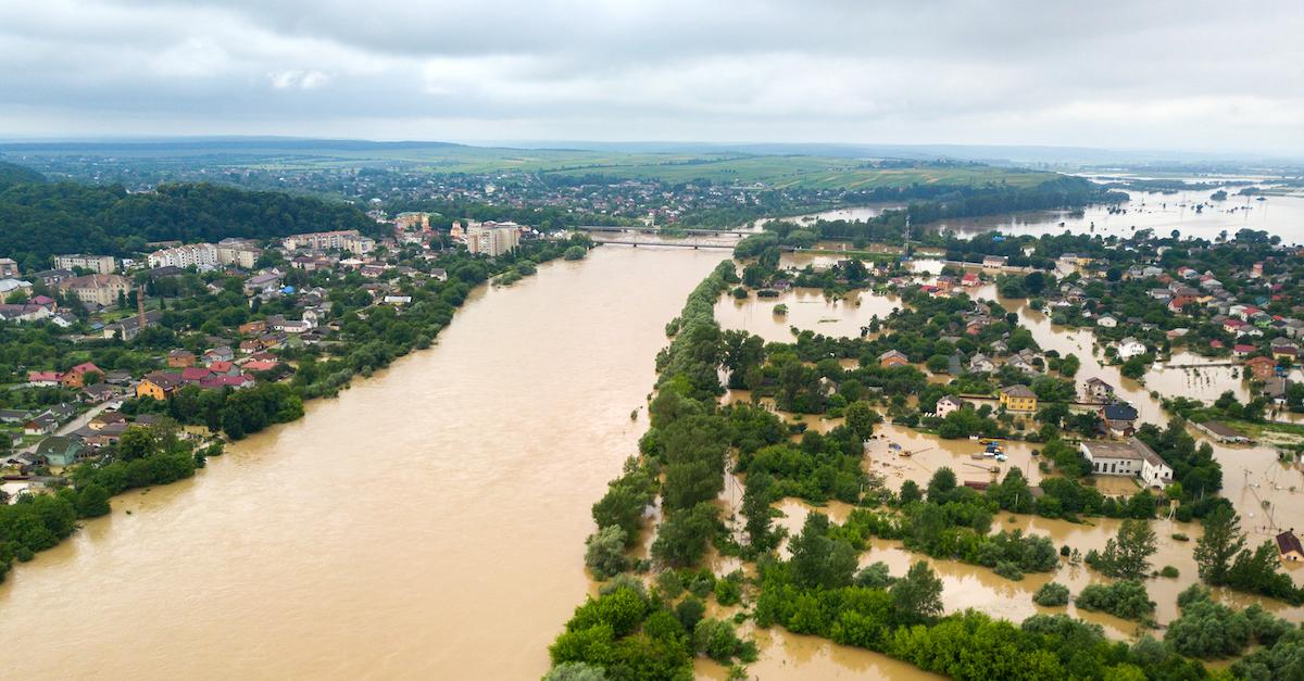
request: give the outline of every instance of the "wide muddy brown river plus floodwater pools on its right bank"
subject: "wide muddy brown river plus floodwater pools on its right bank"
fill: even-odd
[[[664,325],[722,257],[605,247],[583,262],[541,266],[512,287],[480,290],[436,347],[310,404],[300,421],[231,446],[194,480],[115,498],[112,515],[85,523],[0,586],[5,676],[537,678],[548,643],[593,588],[583,569],[588,509],[647,427],[642,410],[635,421],[630,411],[655,381]],[[722,299],[717,314],[726,327],[786,339],[789,324],[855,333],[896,305],[794,292],[790,318],[776,320],[777,301]],[[1099,374],[1120,385],[1157,420],[1148,395],[1157,385],[1120,381],[1089,359],[1089,331],[1058,330],[1008,305],[1043,347],[1082,357],[1080,380]],[[883,436],[866,468],[892,487],[927,480],[943,464],[961,479],[986,476],[964,466],[977,444],[891,425]],[[896,458],[888,441],[921,453]],[[1029,447],[1015,444],[1009,455],[1038,479]],[[1304,504],[1288,489],[1300,485],[1297,471],[1266,447],[1219,447],[1218,455],[1224,493],[1247,515],[1247,530],[1264,522],[1265,498],[1279,526],[1304,528]],[[794,531],[810,511],[797,501],[778,506]],[[836,519],[849,511],[822,510]],[[1007,514],[995,524],[1050,534],[1084,553],[1116,530],[1114,521],[1074,526]],[[1168,621],[1194,577],[1192,544],[1170,535],[1194,539],[1198,526],[1162,521],[1155,530],[1155,566],[1181,571],[1149,584],[1159,620]],[[1260,530],[1253,540],[1265,536]],[[862,564],[880,560],[900,574],[918,556],[874,541]],[[948,611],[1013,620],[1038,612],[1031,594],[1051,578],[1009,582],[982,568],[930,562],[944,579]],[[1085,568],[1054,578],[1074,592],[1098,579]],[[1134,630],[1071,612],[1118,638]],[[762,658],[748,669],[762,678],[927,677],[818,638],[777,629],[756,637]],[[698,674],[722,678],[725,669],[699,661]]]

